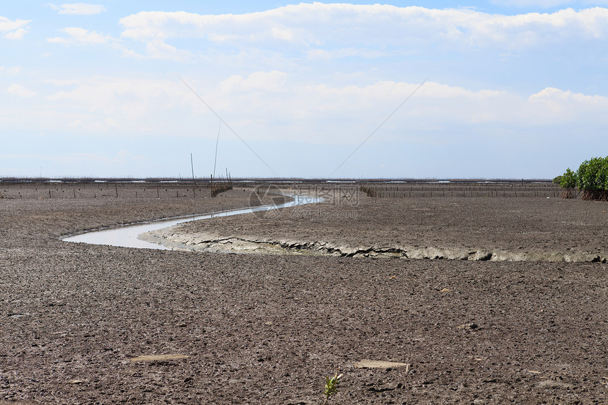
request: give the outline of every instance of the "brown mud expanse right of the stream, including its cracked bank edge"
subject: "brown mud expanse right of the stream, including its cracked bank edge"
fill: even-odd
[[[321,190],[322,204],[281,215],[186,223],[156,234],[189,240],[238,237],[290,252],[406,258],[606,262],[608,204],[546,198],[375,199],[353,189]],[[344,199],[348,196],[348,199]],[[192,237],[192,235],[200,237]],[[223,241],[228,250],[232,241]],[[170,243],[168,243],[170,244]],[[175,243],[175,245],[180,245]],[[221,250],[221,249],[217,249]]]

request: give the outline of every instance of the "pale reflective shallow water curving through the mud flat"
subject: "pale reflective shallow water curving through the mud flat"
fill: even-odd
[[[138,239],[142,233],[150,232],[151,230],[159,230],[168,228],[178,223],[184,223],[187,221],[198,221],[199,219],[209,219],[221,216],[233,216],[240,213],[253,213],[258,211],[269,211],[271,209],[282,209],[290,206],[298,206],[303,204],[313,204],[322,201],[319,197],[312,196],[296,196],[293,197],[293,201],[289,201],[285,204],[279,205],[267,205],[267,206],[256,206],[246,209],[233,209],[230,211],[222,211],[218,213],[207,213],[201,215],[163,219],[159,221],[145,222],[145,223],[134,223],[132,225],[124,225],[119,228],[109,228],[104,230],[95,230],[88,233],[82,233],[81,235],[74,235],[64,238],[64,242],[80,242],[89,243],[91,245],[108,245],[108,246],[119,246],[119,247],[138,247],[140,249],[158,249],[158,250],[172,250],[171,247],[165,247],[156,243],[147,242],[146,240]]]

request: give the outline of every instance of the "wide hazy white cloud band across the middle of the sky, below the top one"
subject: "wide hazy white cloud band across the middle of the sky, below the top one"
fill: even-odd
[[[216,83],[186,81],[247,140],[334,144],[363,140],[419,86],[397,81],[363,86],[309,83],[283,71],[231,75]],[[40,113],[35,122],[55,131],[196,137],[214,137],[217,131],[217,117],[177,79],[74,78],[45,81],[45,86],[57,86],[57,91],[47,96],[46,107],[33,105],[32,111]],[[8,93],[36,95],[18,84]],[[482,136],[480,128],[496,128],[494,136],[554,125],[605,127],[607,110],[607,97],[558,88],[522,95],[428,81],[374,139],[430,144],[454,142],[462,134]],[[31,125],[29,116],[20,119]]]

